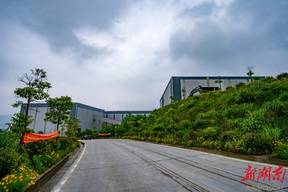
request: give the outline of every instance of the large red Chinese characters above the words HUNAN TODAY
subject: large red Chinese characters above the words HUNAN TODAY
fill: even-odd
[[[257,180],[263,178],[263,181],[265,181],[265,179],[268,178],[268,180],[270,181],[271,168],[272,167],[268,167],[268,168],[264,167],[263,169],[259,169]],[[252,169],[252,167],[250,165],[248,165],[248,168],[245,171],[246,176],[244,178],[242,178],[241,181],[244,182],[244,181],[247,181],[248,179],[252,179],[254,181],[255,180],[255,172],[257,172],[257,167]],[[284,169],[281,165],[279,165],[278,169],[272,171],[272,173],[274,173],[274,176],[272,179],[273,180],[276,179],[277,181],[280,181],[281,183],[283,183],[284,177],[285,177],[285,172],[286,172],[286,169]]]

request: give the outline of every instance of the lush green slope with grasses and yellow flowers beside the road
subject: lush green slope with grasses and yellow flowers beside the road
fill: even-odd
[[[122,136],[288,160],[287,108],[288,80],[267,77],[155,109],[155,122],[130,114]]]

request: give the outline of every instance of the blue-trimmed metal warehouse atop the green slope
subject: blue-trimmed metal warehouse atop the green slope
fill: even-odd
[[[264,79],[265,77],[260,77]],[[175,97],[174,101],[181,100],[190,95],[190,92],[197,88],[199,85],[202,86],[203,91],[213,91],[217,90],[219,83],[215,83],[218,77],[171,77],[161,99],[160,99],[160,108],[171,103],[170,96]],[[251,81],[250,77],[221,77],[223,81],[221,83],[221,89],[225,90],[228,86],[235,87],[236,84],[243,82],[249,83]],[[185,88],[186,92],[183,93],[181,90]],[[199,95],[199,92],[196,92],[194,95]]]

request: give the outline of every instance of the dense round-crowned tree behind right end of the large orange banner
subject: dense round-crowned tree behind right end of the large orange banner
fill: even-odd
[[[73,103],[71,97],[68,96],[49,98],[46,102],[49,111],[45,113],[46,118],[44,118],[44,121],[50,121],[53,124],[57,124],[58,131],[59,125],[62,125],[69,119],[69,115],[71,114],[70,110],[74,108],[75,103]],[[58,137],[56,140],[58,140]]]

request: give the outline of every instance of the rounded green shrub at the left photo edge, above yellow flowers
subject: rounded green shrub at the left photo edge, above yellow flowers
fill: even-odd
[[[3,178],[9,175],[12,169],[17,167],[20,163],[20,157],[16,150],[11,147],[0,148],[0,154],[0,178]]]

